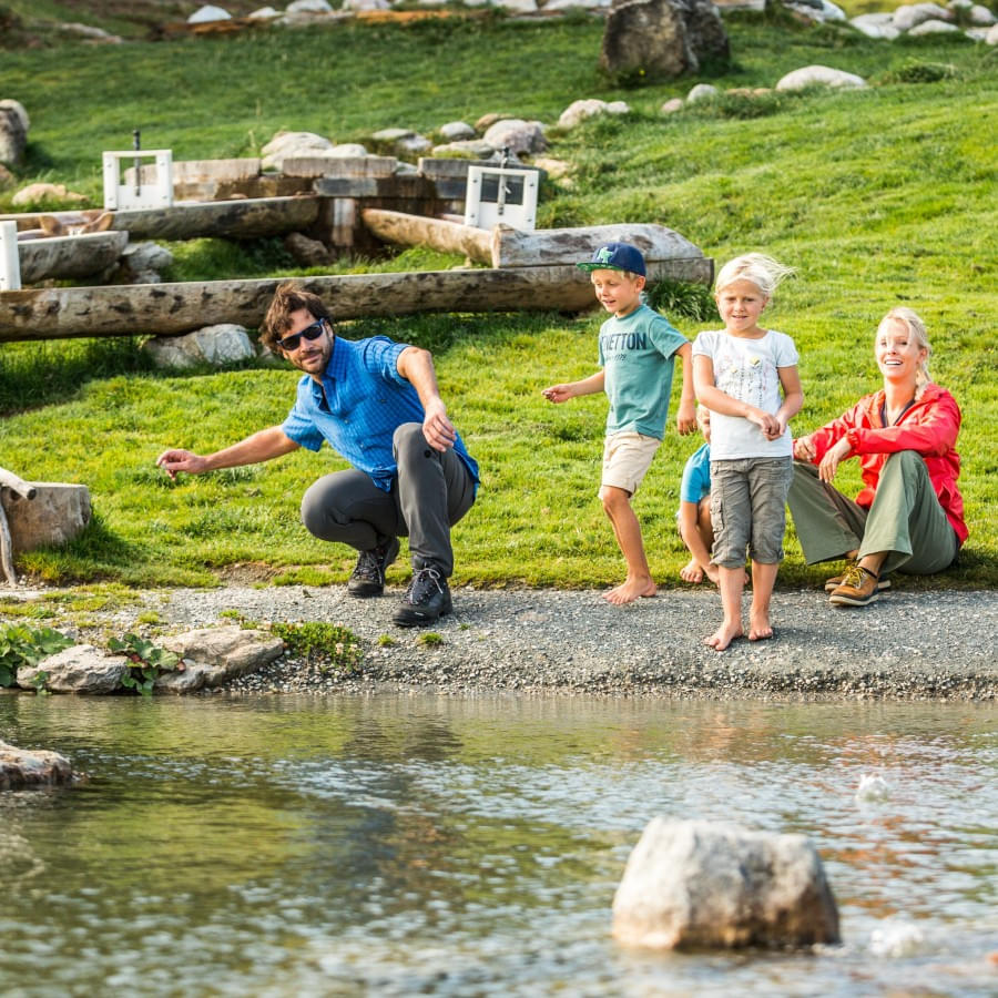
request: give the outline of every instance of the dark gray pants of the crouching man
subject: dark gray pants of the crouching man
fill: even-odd
[[[408,537],[413,568],[434,566],[449,578],[450,528],[475,502],[471,472],[454,448],[434,450],[422,424],[404,422],[391,444],[398,475],[390,492],[364,471],[334,471],[302,497],[302,522],[317,538],[358,551]]]

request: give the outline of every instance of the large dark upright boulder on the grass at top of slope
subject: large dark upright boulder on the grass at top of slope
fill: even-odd
[[[625,0],[607,16],[600,69],[644,79],[695,73],[705,59],[731,53],[711,0]]]

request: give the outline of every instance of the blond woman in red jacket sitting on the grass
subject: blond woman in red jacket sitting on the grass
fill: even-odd
[[[943,571],[967,539],[954,449],[960,410],[929,380],[925,324],[910,308],[892,309],[874,353],[884,387],[794,441],[787,503],[808,564],[849,559],[825,583],[829,601],[843,607],[872,603],[895,569]],[[855,502],[832,487],[839,461],[854,456],[865,482]]]

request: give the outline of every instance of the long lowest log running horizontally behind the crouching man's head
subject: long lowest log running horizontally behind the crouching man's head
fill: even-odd
[[[649,281],[710,284],[713,261],[652,261]],[[190,333],[217,323],[256,328],[283,278],[47,287],[0,293],[0,343],[77,336]],[[594,306],[576,266],[347,274],[298,282],[329,303],[336,318],[424,312],[581,312]]]

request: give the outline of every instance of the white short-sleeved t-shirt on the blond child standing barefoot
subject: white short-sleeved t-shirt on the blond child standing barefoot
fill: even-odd
[[[714,365],[714,387],[739,401],[776,415],[783,404],[781,367],[797,364],[793,339],[773,329],[761,339],[732,336],[724,329],[707,329],[693,343],[693,356],[710,357]],[[777,440],[743,416],[711,413],[711,460],[731,461],[751,457],[793,455],[793,437],[787,427]]]

